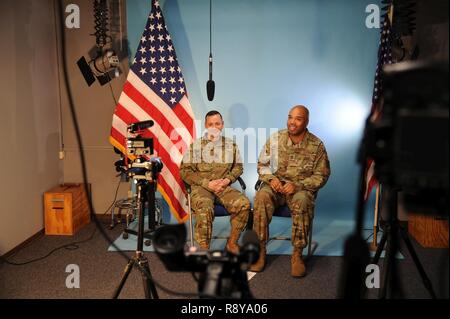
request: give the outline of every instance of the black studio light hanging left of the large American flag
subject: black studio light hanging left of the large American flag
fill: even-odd
[[[108,29],[108,5],[106,0],[94,0],[96,50],[89,61],[82,56],[77,65],[88,86],[97,79],[100,85],[105,85],[119,76],[119,57],[111,47],[111,36]]]

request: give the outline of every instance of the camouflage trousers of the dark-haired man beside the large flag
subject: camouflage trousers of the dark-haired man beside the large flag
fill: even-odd
[[[227,187],[216,195],[201,186],[192,186],[191,208],[195,216],[194,238],[203,247],[209,247],[211,242],[214,203],[223,205],[230,213],[231,232],[240,234],[247,225],[250,201],[241,192]]]

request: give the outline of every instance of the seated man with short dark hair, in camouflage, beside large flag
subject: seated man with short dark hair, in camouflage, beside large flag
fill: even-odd
[[[220,136],[222,115],[210,111],[205,116],[207,134],[196,140],[183,157],[180,175],[191,185],[191,207],[195,214],[195,240],[209,249],[214,220],[214,203],[230,213],[231,233],[226,249],[239,253],[237,241],[247,225],[250,201],[230,187],[243,172],[242,160],[233,140]]]

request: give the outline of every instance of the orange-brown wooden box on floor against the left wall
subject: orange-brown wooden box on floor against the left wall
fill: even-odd
[[[84,184],[62,184],[44,194],[45,234],[74,235],[91,221]]]

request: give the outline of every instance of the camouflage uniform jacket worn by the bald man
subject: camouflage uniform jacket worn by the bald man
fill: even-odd
[[[277,177],[292,182],[296,191],[317,192],[330,176],[330,163],[323,142],[308,130],[299,144],[289,138],[287,129],[272,134],[258,159],[259,179],[269,183]]]

